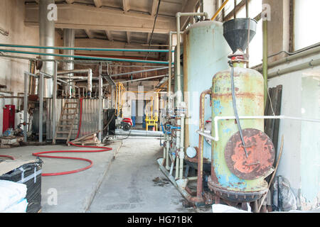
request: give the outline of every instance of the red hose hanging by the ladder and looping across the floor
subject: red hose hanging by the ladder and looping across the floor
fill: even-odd
[[[82,121],[82,99],[80,99],[80,118],[79,118],[79,127],[78,127],[78,134],[77,137],[79,137],[80,134],[80,129],[81,129],[81,121]],[[106,147],[97,147],[97,146],[82,146],[82,145],[76,145],[72,142],[69,142],[71,145],[74,145],[79,148],[104,148],[103,150],[53,150],[53,151],[44,151],[44,152],[39,152],[39,153],[33,153],[33,156],[36,157],[49,157],[49,158],[61,158],[61,159],[71,159],[71,160],[82,160],[85,162],[89,162],[90,165],[87,165],[84,168],[78,169],[78,170],[71,170],[71,171],[66,171],[66,172],[53,172],[53,173],[43,173],[41,176],[43,177],[48,177],[48,176],[58,176],[58,175],[70,175],[75,172],[80,172],[83,170],[87,170],[92,167],[93,162],[92,160],[88,160],[86,158],[82,157],[64,157],[64,156],[49,156],[49,155],[43,155],[43,154],[50,154],[50,153],[94,153],[94,152],[104,152],[108,150],[112,150],[112,148],[106,148]]]

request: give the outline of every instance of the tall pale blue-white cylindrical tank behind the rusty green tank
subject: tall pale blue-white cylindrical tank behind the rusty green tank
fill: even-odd
[[[199,96],[205,89],[210,89],[212,75],[228,67],[230,47],[223,38],[223,23],[201,21],[191,25],[183,33],[183,97],[187,106],[184,148],[198,148]],[[210,120],[210,96],[205,101],[205,121]],[[195,153],[195,152],[193,152]],[[198,149],[197,149],[198,153]],[[188,157],[186,162],[193,162],[197,167],[197,157]],[[210,171],[211,148],[204,142],[204,170]]]

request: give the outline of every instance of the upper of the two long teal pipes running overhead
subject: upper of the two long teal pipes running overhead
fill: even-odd
[[[52,1],[52,0],[49,0],[49,1]],[[65,30],[69,30],[69,29],[64,28],[63,30],[65,31]],[[70,29],[70,30],[73,30],[73,29]],[[55,47],[55,46],[45,46],[45,45],[16,45],[16,44],[6,44],[6,43],[0,43],[0,47],[43,49],[43,50],[85,50],[85,51],[119,51],[119,52],[169,52],[169,50],[158,50],[158,49],[75,48],[73,45],[63,46],[63,47]]]

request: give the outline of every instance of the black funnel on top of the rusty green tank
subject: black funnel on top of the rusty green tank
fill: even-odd
[[[257,21],[250,18],[235,18],[223,23],[223,36],[233,50],[233,53],[237,50],[244,52],[255,36],[256,29]]]

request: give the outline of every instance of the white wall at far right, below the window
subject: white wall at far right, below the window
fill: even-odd
[[[320,55],[313,55],[279,65],[272,68],[269,73],[319,57]],[[311,99],[310,94],[307,93],[311,89],[309,84],[306,83],[307,77],[319,79],[320,67],[291,72],[270,79],[269,87],[276,87],[279,84],[283,86],[282,115],[319,118],[320,86],[318,86],[317,91],[316,87],[312,88],[315,92]],[[315,83],[317,81],[317,79],[314,80]],[[302,123],[301,121],[281,120],[279,141],[282,135],[284,135],[284,148],[277,175],[289,179],[296,195],[301,192],[303,197],[302,209],[311,209],[312,204],[315,207],[317,203],[320,203],[320,157],[318,154],[320,152],[320,123],[313,123],[310,126],[310,123]],[[279,154],[279,148],[277,153]]]

